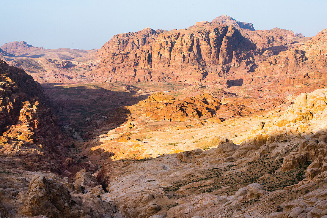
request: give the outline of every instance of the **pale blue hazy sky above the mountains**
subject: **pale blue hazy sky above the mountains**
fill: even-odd
[[[327,28],[326,0],[0,0],[0,46],[26,41],[43,48],[99,49],[112,36],[182,29],[229,15],[255,29],[314,36]]]

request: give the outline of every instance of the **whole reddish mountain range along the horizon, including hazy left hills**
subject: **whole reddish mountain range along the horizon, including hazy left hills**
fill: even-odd
[[[20,55],[9,58],[8,62],[34,74],[40,83],[175,81],[229,88],[242,84],[301,82],[305,75],[292,68],[308,62],[305,51],[298,47],[309,40],[285,29],[255,30],[250,23],[223,15],[212,22],[197,22],[181,30],[146,28],[118,34],[98,51],[40,49],[26,42],[10,42],[2,47],[18,52],[21,49]],[[283,68],[290,69],[287,75],[278,73],[276,77],[266,69],[267,61],[287,62],[285,59],[289,58],[296,63],[286,63]],[[305,64],[308,74],[317,74],[315,71],[320,72],[324,67],[318,64],[312,70],[308,64]]]

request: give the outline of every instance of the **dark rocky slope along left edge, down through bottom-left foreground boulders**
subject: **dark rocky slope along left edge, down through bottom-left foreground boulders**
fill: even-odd
[[[97,178],[67,158],[48,104],[32,76],[0,60],[0,217],[110,217]]]

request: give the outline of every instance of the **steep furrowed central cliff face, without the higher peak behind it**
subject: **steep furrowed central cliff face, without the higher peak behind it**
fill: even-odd
[[[214,79],[230,66],[239,66],[252,58],[255,48],[234,26],[217,22],[184,30],[146,28],[114,36],[98,51],[102,60],[90,74],[113,81],[199,82],[209,71]]]

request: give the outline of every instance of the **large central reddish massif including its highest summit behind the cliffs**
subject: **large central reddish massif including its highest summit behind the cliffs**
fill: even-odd
[[[225,15],[181,30],[146,28],[114,36],[97,52],[97,69],[85,76],[130,83],[177,81],[228,87],[233,84],[227,80],[240,79],[237,76],[241,74],[253,77],[263,61],[293,49],[305,41],[301,37],[279,28],[255,30],[252,24]],[[254,82],[269,79],[260,80]]]

